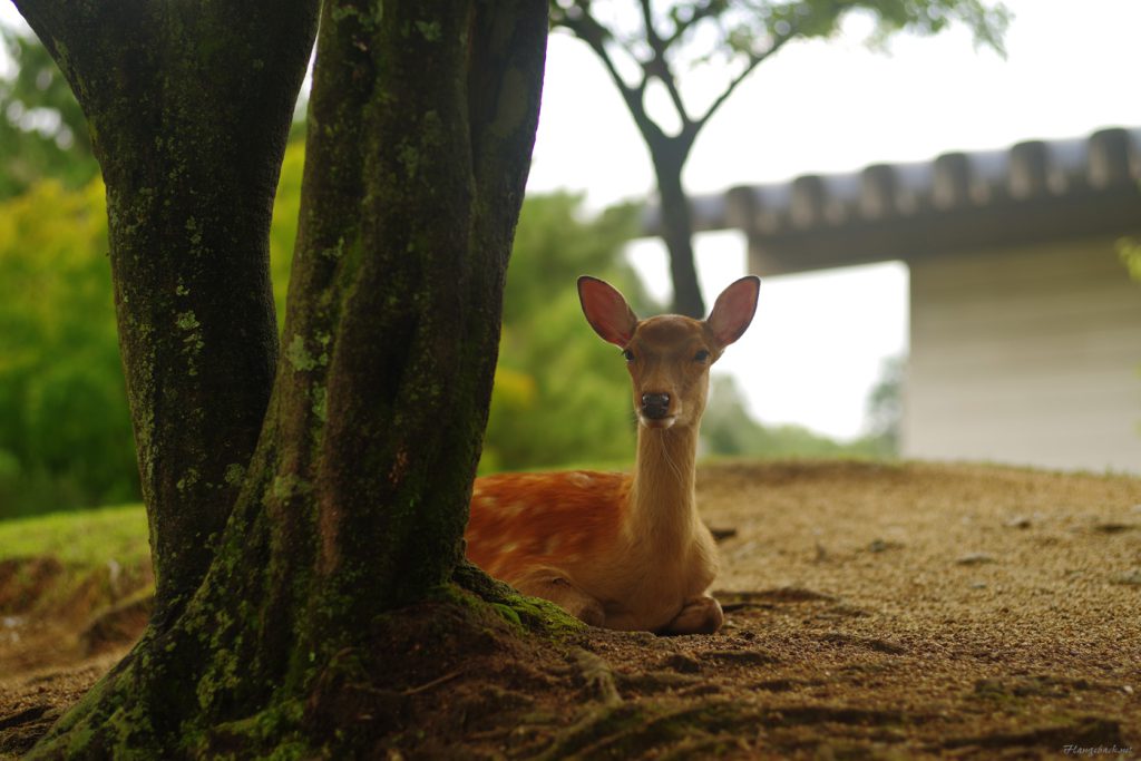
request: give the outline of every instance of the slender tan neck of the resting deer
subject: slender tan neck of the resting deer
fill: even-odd
[[[638,427],[628,536],[655,544],[689,541],[699,520],[694,494],[696,458],[696,427]]]

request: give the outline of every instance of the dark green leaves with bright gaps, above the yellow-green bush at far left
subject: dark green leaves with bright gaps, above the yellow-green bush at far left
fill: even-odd
[[[0,27],[11,73],[0,78],[0,199],[54,178],[78,189],[99,173],[83,112],[39,40]]]

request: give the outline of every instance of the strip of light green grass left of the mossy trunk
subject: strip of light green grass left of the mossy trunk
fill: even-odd
[[[141,565],[151,557],[146,511],[124,504],[0,521],[0,560],[46,556],[65,566]]]

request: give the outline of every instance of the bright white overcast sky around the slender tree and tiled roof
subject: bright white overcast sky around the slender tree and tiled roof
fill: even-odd
[[[1006,148],[1141,126],[1141,1],[1010,0],[1008,56],[977,50],[954,29],[901,35],[888,52],[866,26],[794,42],[762,63],[698,137],[683,176],[690,193],[784,181],[871,163],[928,161],[948,151]],[[695,90],[695,97],[705,95]],[[646,199],[653,170],[641,137],[593,54],[555,33],[528,189],[583,192],[590,209]],[[664,248],[626,256],[650,292],[670,293]],[[736,233],[697,238],[706,300],[745,274]],[[837,437],[864,430],[867,395],[887,357],[907,347],[907,268],[900,262],[762,276],[748,333],[718,363],[753,414]]]

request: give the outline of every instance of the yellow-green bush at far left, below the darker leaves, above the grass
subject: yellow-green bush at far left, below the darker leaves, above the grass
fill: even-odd
[[[103,185],[0,203],[0,517],[137,499]]]

